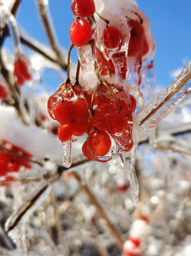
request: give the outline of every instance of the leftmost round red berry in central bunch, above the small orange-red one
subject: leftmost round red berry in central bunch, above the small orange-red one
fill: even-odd
[[[68,101],[59,101],[54,106],[54,117],[60,124],[68,124],[72,121],[70,103]]]

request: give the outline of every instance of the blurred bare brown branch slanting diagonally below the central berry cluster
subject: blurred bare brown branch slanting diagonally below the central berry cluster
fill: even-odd
[[[71,174],[78,181],[81,189],[86,193],[90,202],[96,207],[101,218],[103,218],[106,221],[108,228],[110,229],[111,233],[113,234],[113,236],[116,239],[116,243],[117,243],[119,249],[121,251],[123,251],[123,240],[120,236],[120,233],[118,232],[118,230],[116,229],[114,224],[111,223],[111,221],[108,219],[106,212],[102,209],[102,207],[101,207],[100,203],[97,201],[96,197],[90,192],[89,188],[82,183],[81,178],[77,174],[77,172],[71,172]]]

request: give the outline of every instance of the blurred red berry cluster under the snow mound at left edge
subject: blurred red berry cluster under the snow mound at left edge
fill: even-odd
[[[23,157],[29,159],[32,157],[28,152],[10,142],[3,141],[1,145]],[[23,158],[11,154],[8,151],[0,151],[0,176],[6,176],[9,172],[18,172],[22,166],[27,169],[32,168],[31,164]]]

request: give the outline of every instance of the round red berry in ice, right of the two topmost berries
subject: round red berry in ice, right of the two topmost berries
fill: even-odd
[[[115,27],[107,26],[103,31],[102,41],[108,50],[119,50],[122,46],[122,34]]]

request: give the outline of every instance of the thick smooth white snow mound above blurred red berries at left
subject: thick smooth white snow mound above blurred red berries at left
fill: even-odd
[[[62,143],[46,130],[23,124],[13,107],[0,106],[0,140],[7,140],[35,157],[62,161]],[[82,154],[82,145],[73,145],[73,157]]]

